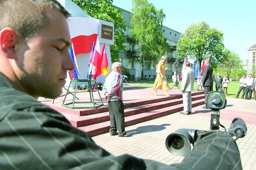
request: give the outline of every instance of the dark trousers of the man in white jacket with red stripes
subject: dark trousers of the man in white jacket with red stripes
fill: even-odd
[[[119,134],[125,133],[124,130],[124,103],[122,100],[108,101],[108,110],[110,117],[110,132],[119,131]]]

